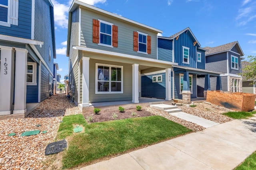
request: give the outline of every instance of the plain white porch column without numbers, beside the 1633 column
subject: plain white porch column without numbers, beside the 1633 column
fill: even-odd
[[[26,92],[27,92],[27,56],[28,50],[15,48],[15,91],[13,114],[26,113]],[[34,68],[36,70],[36,68]],[[34,75],[36,76],[36,75]]]

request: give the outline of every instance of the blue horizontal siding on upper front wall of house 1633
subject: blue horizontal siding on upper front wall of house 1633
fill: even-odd
[[[0,34],[31,39],[31,0],[19,0],[18,25],[0,25]]]

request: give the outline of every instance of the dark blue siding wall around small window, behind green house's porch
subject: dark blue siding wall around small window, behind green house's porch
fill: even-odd
[[[162,75],[162,82],[152,82],[152,76],[160,75]],[[141,97],[165,99],[165,88],[165,72],[141,76]]]

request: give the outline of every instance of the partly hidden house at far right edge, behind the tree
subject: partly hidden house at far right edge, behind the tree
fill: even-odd
[[[250,64],[248,61],[242,61],[242,69],[246,66]],[[243,70],[242,70],[243,72]],[[244,76],[242,76],[242,80],[243,80],[243,88],[242,88],[242,92],[243,93],[252,93],[252,94],[256,94],[256,87],[255,87],[255,80],[253,79],[249,79],[249,80],[246,80],[244,78]]]

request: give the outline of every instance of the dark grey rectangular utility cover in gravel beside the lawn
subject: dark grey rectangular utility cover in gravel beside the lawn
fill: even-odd
[[[64,139],[62,141],[57,141],[49,143],[45,149],[44,154],[54,154],[63,151],[67,147],[67,141]]]

